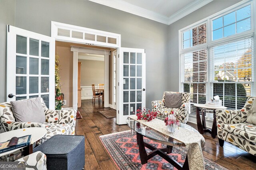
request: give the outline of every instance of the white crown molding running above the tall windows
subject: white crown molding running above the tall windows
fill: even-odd
[[[171,15],[169,17],[168,25],[174,23],[175,21],[180,20],[184,16],[187,16],[188,14],[194,12],[195,10],[198,10],[202,6],[205,6],[206,4],[212,2],[213,0],[195,0],[194,2],[190,3],[189,5],[185,6],[175,14]]]

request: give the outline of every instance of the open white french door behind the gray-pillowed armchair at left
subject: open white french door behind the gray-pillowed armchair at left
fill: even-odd
[[[54,109],[54,63],[54,38],[8,25],[7,102],[39,96]]]

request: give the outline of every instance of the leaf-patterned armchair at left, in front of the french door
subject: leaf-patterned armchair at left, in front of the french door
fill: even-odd
[[[22,129],[26,127],[44,127],[46,135],[42,139],[46,141],[53,135],[74,135],[76,125],[76,110],[50,110],[41,98],[45,114],[45,123],[16,122],[12,105],[9,102],[0,103],[0,133]]]

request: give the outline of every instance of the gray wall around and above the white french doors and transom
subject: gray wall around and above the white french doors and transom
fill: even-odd
[[[122,47],[146,49],[146,107],[168,90],[168,25],[86,0],[16,0],[14,26],[50,36],[51,21],[118,33]]]

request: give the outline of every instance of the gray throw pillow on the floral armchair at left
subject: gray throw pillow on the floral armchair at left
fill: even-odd
[[[45,115],[41,98],[11,101],[14,117],[18,122],[44,123]]]

